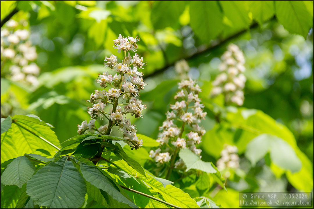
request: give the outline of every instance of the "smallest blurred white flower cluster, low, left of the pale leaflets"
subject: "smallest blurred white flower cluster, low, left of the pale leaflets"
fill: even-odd
[[[217,160],[217,168],[221,171],[225,168],[239,168],[239,156],[236,146],[225,144],[225,148],[220,152],[221,158]]]

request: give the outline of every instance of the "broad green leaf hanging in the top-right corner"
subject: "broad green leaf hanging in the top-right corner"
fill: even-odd
[[[276,17],[290,33],[306,37],[313,26],[313,16],[303,1],[275,1]]]

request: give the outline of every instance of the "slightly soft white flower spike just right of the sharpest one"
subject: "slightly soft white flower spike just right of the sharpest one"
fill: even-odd
[[[172,111],[166,113],[167,119],[159,127],[162,132],[159,133],[156,141],[160,143],[160,147],[149,152],[149,156],[160,164],[170,161],[169,151],[174,154],[176,152],[174,150],[189,148],[197,155],[200,155],[202,151],[196,148],[196,144],[201,143],[202,136],[205,134],[205,130],[198,123],[201,119],[205,119],[207,114],[203,112],[204,105],[198,98],[201,89],[192,79],[182,80],[178,85],[180,91],[174,97],[178,101],[170,106]],[[175,122],[181,123],[181,128]],[[190,130],[183,135],[186,125],[190,127]],[[181,159],[177,160],[174,165],[175,168],[184,167]]]

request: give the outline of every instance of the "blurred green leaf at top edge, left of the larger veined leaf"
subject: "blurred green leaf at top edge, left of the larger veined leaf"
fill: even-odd
[[[184,1],[155,1],[150,15],[154,29],[164,29],[165,27],[178,29],[179,17],[184,8]]]

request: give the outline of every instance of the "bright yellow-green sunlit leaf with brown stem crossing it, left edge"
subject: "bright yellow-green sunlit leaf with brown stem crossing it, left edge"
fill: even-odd
[[[11,127],[1,134],[1,163],[25,153],[54,155],[57,149],[51,144],[60,144],[51,126],[38,118],[15,115]]]

